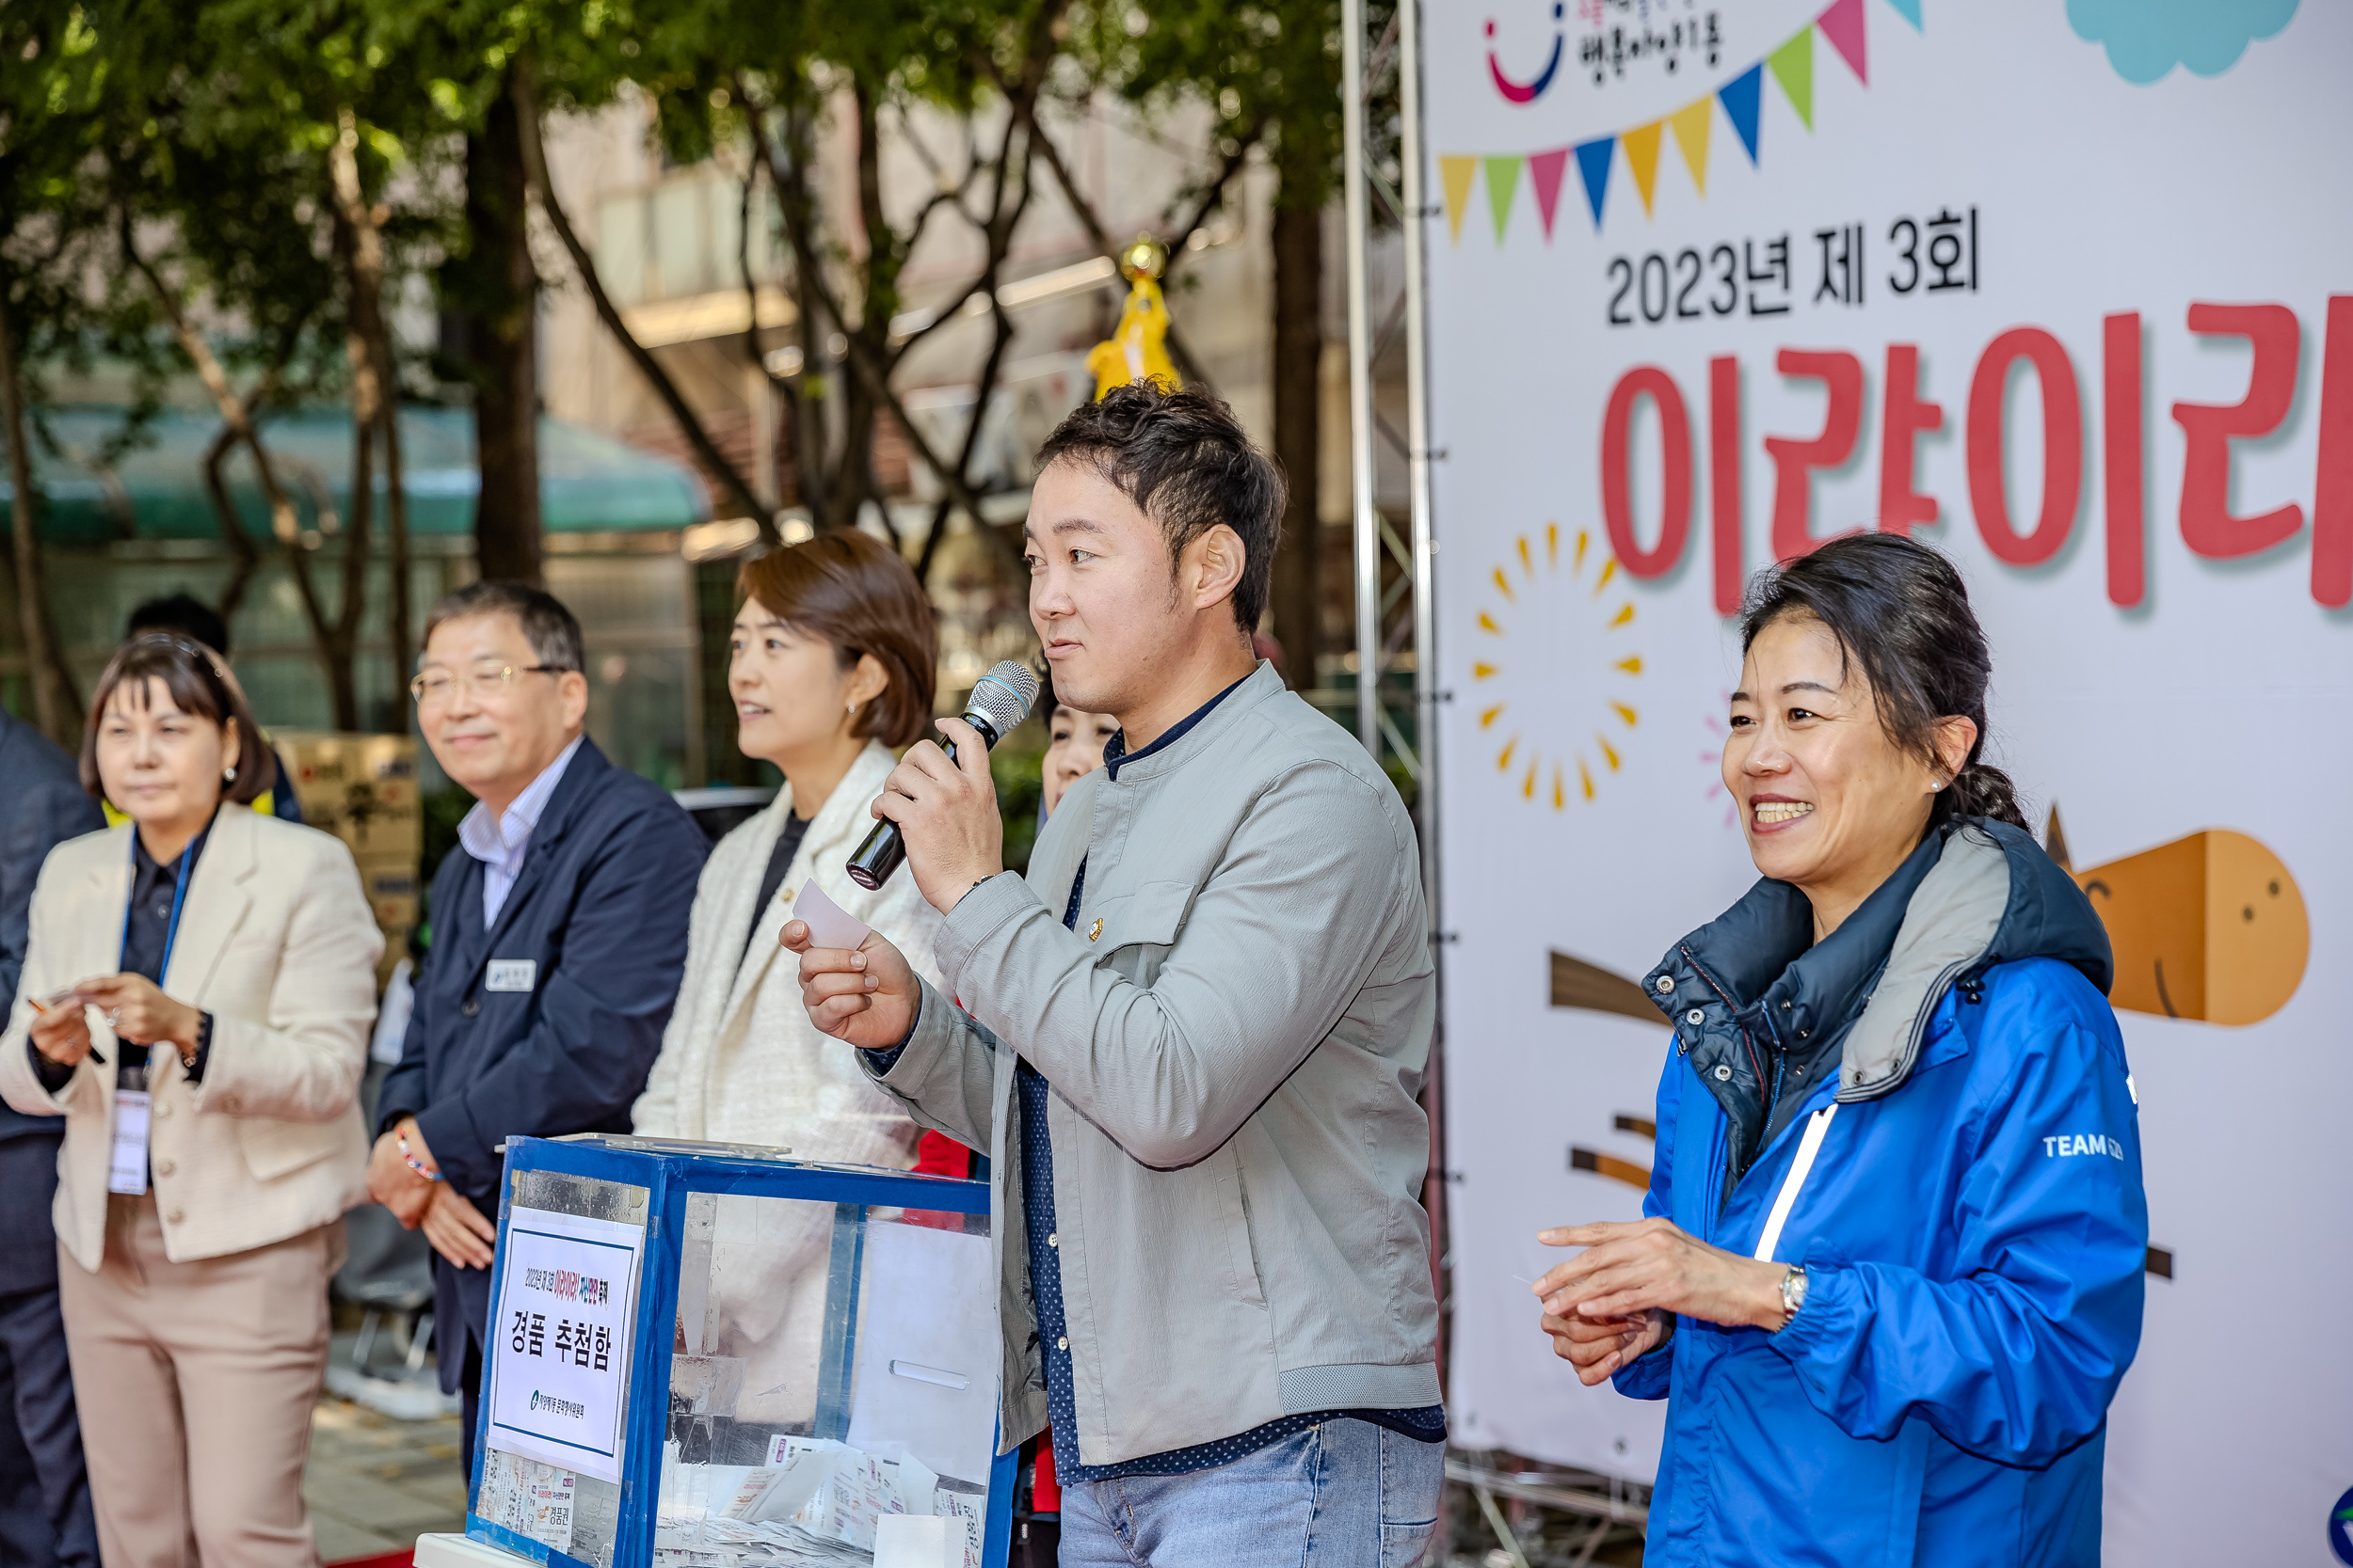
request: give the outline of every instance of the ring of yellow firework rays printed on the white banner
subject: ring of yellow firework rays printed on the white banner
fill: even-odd
[[[1642,722],[1628,682],[1642,675],[1635,607],[1617,557],[1591,529],[1558,522],[1520,534],[1487,574],[1494,597],[1478,611],[1473,712],[1497,773],[1527,802],[1567,811],[1593,802],[1626,766]]]

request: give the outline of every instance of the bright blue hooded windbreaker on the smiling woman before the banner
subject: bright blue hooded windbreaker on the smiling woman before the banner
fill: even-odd
[[[1685,1316],[1617,1373],[1668,1401],[1645,1561],[2092,1568],[2148,1248],[2106,931],[1969,823],[1809,938],[1760,882],[1645,978],[1645,1213],[1807,1272],[1779,1333]]]

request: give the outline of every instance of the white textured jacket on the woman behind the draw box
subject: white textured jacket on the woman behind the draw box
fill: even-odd
[[[866,809],[892,766],[896,759],[882,745],[871,743],[859,755],[809,820],[765,910],[751,905],[793,809],[791,785],[711,851],[694,889],[678,1006],[645,1095],[631,1110],[638,1133],[753,1143],[791,1150],[795,1159],[901,1171],[915,1164],[920,1133],[913,1119],[859,1070],[856,1046],[809,1023],[800,1006],[800,961],[776,943],[793,900],[814,877],[828,898],[880,931],[918,973],[936,983],[932,936],[939,910],[915,891],[913,872],[901,867],[873,893],[842,872],[849,851],[873,827]],[[758,933],[744,952],[755,917]]]

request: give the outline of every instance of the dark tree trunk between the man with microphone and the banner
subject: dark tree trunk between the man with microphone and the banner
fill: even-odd
[[[1285,181],[1289,183],[1289,181]],[[1275,200],[1275,461],[1289,480],[1282,543],[1275,548],[1275,642],[1282,679],[1315,686],[1322,644],[1322,524],[1315,477],[1322,447],[1322,212]]]

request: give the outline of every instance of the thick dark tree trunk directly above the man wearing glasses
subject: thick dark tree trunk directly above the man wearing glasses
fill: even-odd
[[[539,270],[532,266],[522,125],[513,92],[466,136],[466,357],[482,470],[473,550],[485,578],[539,583]]]

